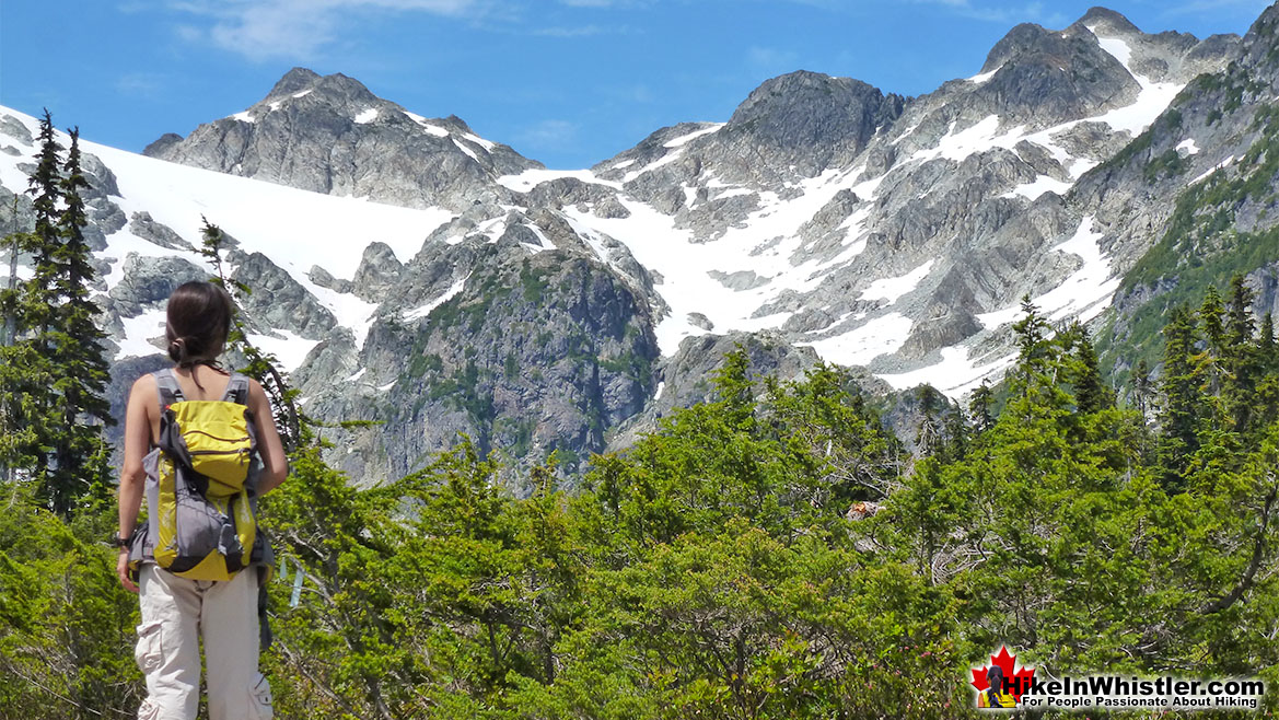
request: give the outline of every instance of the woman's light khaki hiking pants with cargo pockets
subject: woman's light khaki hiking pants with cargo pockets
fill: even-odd
[[[142,624],[136,651],[147,678],[138,720],[196,720],[200,638],[205,639],[210,720],[270,720],[271,687],[257,670],[257,578],[249,568],[226,582],[179,578],[142,567]]]

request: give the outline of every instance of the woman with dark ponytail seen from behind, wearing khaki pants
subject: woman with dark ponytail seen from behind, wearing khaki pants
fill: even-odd
[[[217,357],[223,352],[231,325],[231,299],[226,292],[211,283],[187,283],[169,298],[166,338],[169,357],[174,367],[152,375],[143,375],[133,384],[129,394],[124,431],[124,468],[120,473],[120,527],[115,541],[120,546],[116,573],[120,584],[139,593],[142,624],[138,625],[137,661],[146,675],[147,698],[138,710],[142,720],[194,720],[200,707],[200,645],[203,637],[205,665],[207,669],[210,720],[270,719],[271,691],[266,678],[257,669],[260,653],[258,586],[266,577],[263,564],[270,564],[270,550],[261,533],[256,532],[252,508],[256,497],[265,495],[284,482],[288,473],[284,449],[272,421],[270,402],[261,385],[240,375],[221,368]],[[179,577],[180,564],[164,563],[174,572],[164,569],[156,560],[156,517],[170,512],[177,518],[168,532],[182,524],[183,512],[191,499],[205,503],[214,497],[212,481],[205,480],[201,496],[188,494],[188,503],[177,503],[174,469],[178,460],[171,455],[171,444],[161,437],[161,417],[166,426],[177,423],[168,408],[182,400],[226,400],[228,403],[191,403],[221,408],[234,416],[239,409],[240,428],[249,428],[249,437],[239,453],[240,495],[237,489],[228,492],[220,506],[223,514],[214,513],[217,522],[229,524],[231,532],[221,532],[215,542],[210,563],[191,568],[185,574],[215,575],[228,579],[191,579]],[[247,405],[229,405],[237,402]],[[164,407],[161,407],[161,403]],[[197,421],[191,421],[198,425]],[[208,434],[216,435],[216,434]],[[256,437],[252,437],[255,436]],[[193,439],[192,444],[198,440]],[[165,444],[165,451],[160,445]],[[182,441],[185,450],[185,440]],[[208,453],[208,451],[205,451]],[[180,453],[179,453],[180,454]],[[194,453],[200,455],[200,451]],[[256,455],[256,457],[255,457]],[[185,460],[191,462],[188,454]],[[206,462],[206,460],[201,460]],[[201,466],[207,467],[207,466]],[[168,471],[161,469],[168,468]],[[159,487],[157,474],[168,473],[169,500],[165,487]],[[202,476],[194,476],[202,477]],[[212,476],[208,476],[212,477]],[[179,481],[180,485],[180,481]],[[159,490],[157,490],[159,487]],[[143,491],[147,491],[148,526],[137,527]],[[153,500],[160,497],[160,500]],[[159,505],[150,506],[151,504]],[[246,515],[243,513],[249,513]],[[206,513],[207,515],[207,513]],[[240,518],[239,532],[249,528],[252,535],[237,536],[235,517]],[[159,523],[164,526],[164,523]],[[137,531],[136,531],[137,528]],[[225,529],[225,528],[224,528]],[[161,535],[165,529],[159,531]],[[217,536],[217,532],[214,533]],[[240,540],[257,552],[239,545]],[[174,541],[175,544],[177,541]],[[229,551],[228,545],[237,547]],[[173,547],[174,545],[166,545]],[[242,552],[240,552],[242,551]],[[224,556],[230,552],[230,558]],[[219,565],[219,572],[210,568]],[[257,567],[255,567],[255,564]],[[242,569],[240,569],[242,568]],[[239,572],[235,572],[239,569]],[[134,583],[134,578],[138,581]],[[141,587],[141,592],[139,592]]]

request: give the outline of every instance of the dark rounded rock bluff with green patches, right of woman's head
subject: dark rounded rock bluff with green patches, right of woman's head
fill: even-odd
[[[425,315],[382,315],[359,375],[308,402],[318,417],[385,422],[350,437],[365,458],[336,458],[358,477],[416,469],[459,432],[515,463],[559,451],[576,467],[652,393],[647,307],[606,266],[503,243],[449,251],[463,252],[476,254],[457,294]],[[443,265],[421,258],[408,272]]]

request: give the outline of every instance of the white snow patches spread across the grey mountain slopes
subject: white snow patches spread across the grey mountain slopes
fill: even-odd
[[[1092,29],[1094,35],[1097,33]],[[624,170],[623,182],[599,178],[591,170],[527,170],[518,175],[494,178],[496,183],[518,193],[527,193],[537,184],[570,178],[583,183],[602,185],[618,193],[618,201],[629,211],[629,216],[605,219],[590,208],[567,206],[560,215],[582,238],[590,252],[601,262],[627,275],[627,251],[643,267],[660,276],[656,292],[669,312],[660,316],[656,336],[663,354],[670,356],[682,340],[707,333],[758,331],[780,329],[796,312],[769,309],[770,303],[787,303],[794,307],[792,299],[817,289],[831,272],[848,267],[866,251],[867,239],[874,228],[870,226],[872,210],[879,201],[881,184],[894,176],[894,173],[911,171],[934,161],[961,162],[977,153],[1004,148],[1016,152],[1018,143],[1030,142],[1046,150],[1064,169],[1055,176],[1040,175],[1031,182],[1016,185],[1003,193],[1005,198],[1031,202],[1045,193],[1065,196],[1074,182],[1096,165],[1095,160],[1073,156],[1058,141],[1058,136],[1087,121],[1110,125],[1117,132],[1132,136],[1142,132],[1168,106],[1182,86],[1175,83],[1155,83],[1132,70],[1132,47],[1122,38],[1097,36],[1099,46],[1115,58],[1140,86],[1133,102],[1117,107],[1095,118],[1063,123],[1046,129],[1028,129],[1024,125],[1005,127],[1000,118],[989,115],[961,127],[952,121],[948,132],[927,147],[914,147],[889,171],[874,178],[866,176],[866,166],[854,169],[826,170],[816,178],[790,183],[787,187],[787,200],[778,192],[753,187],[733,185],[706,174],[693,184],[686,183],[683,191],[686,205],[694,206],[698,196],[710,200],[723,200],[738,196],[755,196],[756,208],[744,223],[724,230],[723,235],[711,239],[694,238],[693,230],[677,225],[675,217],[660,212],[655,207],[640,202],[627,194],[625,183],[646,173],[680,161],[696,147],[694,141],[719,132],[724,123],[702,124],[696,130],[683,133],[663,143],[665,151],[660,157],[646,165],[636,160],[615,162],[613,170]],[[987,82],[999,68],[968,78],[977,86]],[[301,97],[306,92],[297,93]],[[270,113],[269,107],[257,107],[255,113]],[[354,123],[376,123],[382,113],[393,113],[389,106],[365,107],[353,118]],[[451,132],[436,123],[407,110],[405,116],[416,121],[422,132],[440,138],[450,138],[457,147],[475,157],[477,148],[492,151],[498,147],[473,133]],[[36,120],[14,111],[5,111],[22,121],[35,134]],[[260,115],[261,116],[261,115]],[[253,123],[249,111],[233,115],[234,119]],[[895,134],[893,145],[912,136],[918,125]],[[12,141],[12,138],[9,138]],[[20,143],[19,143],[20,145]],[[1069,145],[1069,143],[1065,143]],[[148,212],[157,223],[175,230],[192,249],[168,249],[145,238],[134,235],[128,228],[115,231],[107,238],[107,248],[97,256],[105,260],[110,270],[106,274],[109,286],[123,280],[124,263],[130,256],[139,257],[182,257],[193,263],[203,261],[194,247],[200,246],[201,219],[220,225],[234,237],[246,252],[261,252],[283,267],[307,292],[327,307],[338,322],[352,330],[357,344],[367,336],[377,306],[367,303],[349,293],[336,293],[311,281],[312,267],[321,267],[334,278],[352,278],[359,265],[365,248],[372,242],[390,246],[402,261],[411,260],[420,249],[426,237],[436,228],[454,220],[455,215],[443,208],[413,210],[380,205],[366,200],[335,197],[299,191],[283,185],[198,170],[170,164],[136,153],[115,150],[92,142],[83,142],[86,152],[98,156],[116,175],[120,194],[111,200],[127,216],[134,212]],[[9,188],[24,188],[26,174],[18,168],[29,162],[29,143],[19,148],[20,156],[0,153],[0,182]],[[1192,138],[1184,139],[1178,151],[1184,155],[1198,152]],[[1229,159],[1218,166],[1228,165]],[[1065,179],[1063,179],[1063,176]],[[1206,178],[1202,175],[1196,182]],[[888,187],[894,187],[890,182]],[[828,235],[822,242],[821,257],[813,254],[813,247],[801,238],[799,231],[813,216],[830,203],[840,191],[852,191],[859,205],[840,224],[835,235]],[[512,206],[518,211],[521,207]],[[498,216],[478,224],[475,231],[496,240],[508,229],[508,217]],[[555,244],[538,228],[530,224],[537,238],[536,243],[524,243],[530,253],[555,249]],[[842,239],[840,239],[842,238]],[[1060,238],[1054,252],[1074,257],[1078,269],[1058,286],[1033,298],[1044,313],[1051,320],[1078,317],[1090,320],[1106,307],[1118,288],[1118,278],[1110,260],[1097,244],[1100,233],[1094,231],[1092,217],[1085,217],[1076,233]],[[462,242],[460,235],[445,238],[445,243]],[[816,242],[816,240],[815,240]],[[624,246],[623,248],[618,247]],[[903,272],[903,270],[906,270]],[[862,303],[872,303],[861,312],[842,312],[838,321],[822,330],[815,330],[816,338],[811,345],[822,358],[844,364],[870,364],[879,358],[897,353],[908,338],[914,322],[907,315],[911,294],[925,285],[938,262],[929,260],[913,269],[877,267],[867,272],[876,275],[856,279],[849,289],[849,298]],[[939,272],[940,275],[940,272]],[[725,280],[726,278],[732,279]],[[744,281],[743,281],[744,280]],[[735,290],[729,285],[748,288]],[[400,317],[407,321],[425,318],[432,309],[455,297],[466,286],[466,279],[457,280],[439,297],[417,298],[405,303]],[[660,307],[661,303],[655,303]],[[781,307],[787,307],[781,304]],[[806,308],[804,308],[806,309]],[[155,338],[157,327],[162,330],[162,317],[157,309],[145,309],[137,317],[123,318],[124,338],[119,339],[118,359],[132,356],[150,354],[155,347],[148,343]],[[996,330],[1019,317],[1019,307],[1004,307],[977,316],[986,330]],[[306,354],[315,347],[315,340],[307,340],[281,329],[263,329],[263,335],[255,338],[265,349],[275,353],[289,370],[295,370]],[[944,348],[935,353],[927,364],[917,370],[881,373],[880,377],[897,387],[907,387],[920,382],[932,382],[952,396],[969,391],[982,379],[998,376],[1012,362],[1010,357],[989,357],[978,352],[977,339],[966,344]],[[876,366],[879,367],[879,366]],[[906,366],[911,367],[911,366]],[[358,375],[358,373],[357,373]],[[659,390],[660,394],[660,390]]]

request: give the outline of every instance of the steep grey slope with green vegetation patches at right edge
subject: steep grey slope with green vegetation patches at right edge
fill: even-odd
[[[1270,242],[1279,219],[1273,201],[1247,187],[1279,180],[1257,161],[1279,137],[1276,28],[1279,8],[1271,6],[1224,69],[1192,82],[1146,134],[1079,182],[1077,202],[1096,211],[1109,252],[1133,269],[1106,318],[1104,359],[1137,352],[1157,363],[1159,338],[1134,318],[1166,312],[1187,281],[1224,289],[1238,271],[1259,294],[1257,317],[1273,308],[1267,289],[1279,267],[1251,243]],[[1212,274],[1223,256],[1237,261]],[[1248,256],[1260,261],[1248,263]]]

